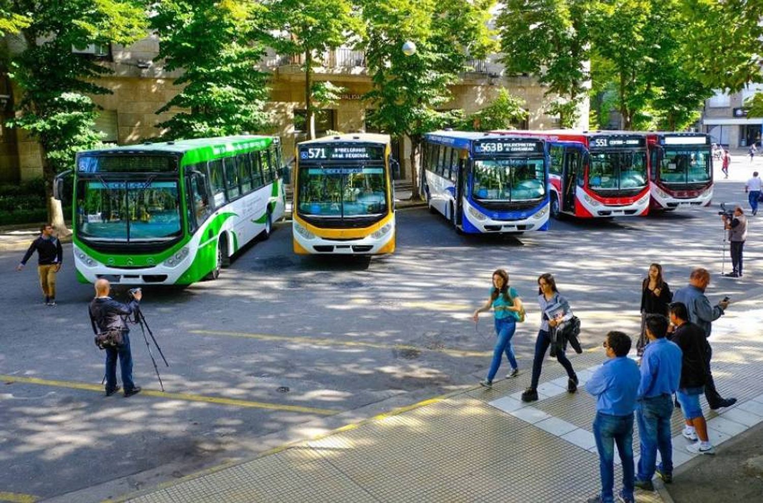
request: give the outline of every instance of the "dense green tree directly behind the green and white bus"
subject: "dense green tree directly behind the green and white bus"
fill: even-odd
[[[172,138],[262,131],[269,98],[268,74],[256,69],[265,54],[263,9],[256,2],[160,0],[151,26],[161,44],[156,60],[182,69],[185,85],[157,114],[183,111],[157,127]]]

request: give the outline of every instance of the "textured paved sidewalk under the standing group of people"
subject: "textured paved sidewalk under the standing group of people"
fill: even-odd
[[[720,414],[703,401],[716,459],[730,454],[727,440],[763,422],[763,362],[749,357],[763,354],[760,290],[713,324],[713,375],[722,395],[739,399]],[[585,501],[600,485],[591,434],[595,401],[582,388],[603,360],[600,348],[571,358],[581,380],[574,395],[566,392],[562,367],[546,360],[541,399],[523,404],[519,395],[530,381],[529,363],[523,361],[517,379],[497,382],[491,391],[475,387],[433,398],[113,501]],[[677,410],[676,479],[696,456],[685,450],[682,426]],[[636,456],[638,450],[636,431]],[[617,489],[622,475],[619,466],[616,470]],[[725,494],[727,480],[713,480],[707,491]],[[678,483],[670,493],[657,479],[655,486],[658,492],[637,491],[636,501],[672,501],[671,495],[680,495]]]

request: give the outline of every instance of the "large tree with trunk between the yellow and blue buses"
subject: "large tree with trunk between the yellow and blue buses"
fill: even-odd
[[[418,160],[422,135],[458,118],[460,111],[438,111],[451,98],[469,57],[492,50],[487,21],[492,1],[365,0],[362,41],[372,75],[365,100],[382,131],[410,139],[413,198],[419,198]],[[406,56],[405,42],[416,44]]]

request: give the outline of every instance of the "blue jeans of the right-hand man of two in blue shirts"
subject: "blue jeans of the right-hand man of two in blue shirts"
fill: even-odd
[[[657,450],[660,451],[662,457],[660,471],[667,475],[673,475],[671,415],[673,415],[672,395],[665,394],[642,398],[636,405],[636,419],[639,421],[639,437],[641,437],[639,480],[652,480],[652,477],[655,476]]]

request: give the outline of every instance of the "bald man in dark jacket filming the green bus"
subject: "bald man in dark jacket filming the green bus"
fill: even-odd
[[[89,314],[96,333],[109,330],[121,330],[122,343],[118,347],[107,347],[106,351],[106,396],[114,395],[119,391],[117,385],[117,357],[122,373],[122,385],[124,396],[132,396],[140,393],[140,388],[133,382],[133,355],[130,352],[130,337],[127,328],[127,316],[140,308],[140,298],[143,297],[140,289],[131,290],[132,300],[129,304],[122,304],[109,297],[111,285],[108,279],[98,279],[95,282],[95,298],[90,302]]]

